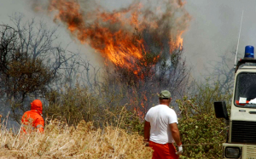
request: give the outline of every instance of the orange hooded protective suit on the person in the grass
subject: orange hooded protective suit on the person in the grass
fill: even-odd
[[[35,99],[31,103],[31,111],[26,111],[21,118],[24,133],[31,133],[32,131],[44,132],[44,119],[42,117],[43,105],[41,100]]]

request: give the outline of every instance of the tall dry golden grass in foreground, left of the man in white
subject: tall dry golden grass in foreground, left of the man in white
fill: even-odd
[[[2,122],[3,123],[3,122]],[[0,158],[151,158],[152,150],[143,137],[123,129],[96,129],[92,122],[68,127],[66,122],[50,120],[44,133],[13,133],[0,125]]]

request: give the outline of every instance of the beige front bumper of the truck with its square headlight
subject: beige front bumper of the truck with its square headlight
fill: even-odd
[[[256,159],[256,145],[223,144],[224,159]]]

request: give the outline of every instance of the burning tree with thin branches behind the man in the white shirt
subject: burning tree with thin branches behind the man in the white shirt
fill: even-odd
[[[143,39],[143,58],[131,63],[133,69],[107,65],[105,79],[108,92],[125,94],[122,104],[128,104],[130,110],[137,111],[143,118],[150,107],[158,104],[157,94],[162,89],[171,91],[173,101],[183,97],[189,82],[189,68],[182,57],[183,48],[171,46],[167,37],[160,42],[152,32],[135,30],[133,38],[133,45],[137,47],[141,47],[137,42]]]

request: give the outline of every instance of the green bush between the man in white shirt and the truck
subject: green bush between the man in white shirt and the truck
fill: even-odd
[[[227,127],[224,119],[215,117],[213,102],[229,102],[231,94],[221,94],[218,83],[199,84],[196,90],[190,98],[177,99],[182,115],[179,120],[184,145],[181,158],[221,158]]]

